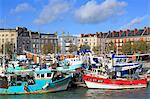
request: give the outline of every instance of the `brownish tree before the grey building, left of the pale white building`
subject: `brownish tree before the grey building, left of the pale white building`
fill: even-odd
[[[42,48],[43,54],[54,53],[54,46],[51,44],[45,44]]]

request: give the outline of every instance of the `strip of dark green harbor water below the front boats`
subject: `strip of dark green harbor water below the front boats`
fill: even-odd
[[[0,99],[149,99],[149,97],[150,87],[124,90],[100,90],[79,87],[46,94],[0,95]]]

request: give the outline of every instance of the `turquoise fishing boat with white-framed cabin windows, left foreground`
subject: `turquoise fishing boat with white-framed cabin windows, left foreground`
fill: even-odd
[[[71,75],[42,70],[14,70],[0,74],[0,94],[38,94],[66,90]]]

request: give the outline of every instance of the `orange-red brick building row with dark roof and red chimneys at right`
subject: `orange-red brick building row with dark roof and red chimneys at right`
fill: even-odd
[[[101,34],[102,35],[102,34]],[[102,36],[101,38],[102,39]],[[128,42],[131,42],[131,45],[134,45],[136,41],[145,41],[147,45],[150,44],[150,28],[144,29],[134,29],[134,30],[120,30],[108,32],[107,36],[104,37],[104,44],[106,47],[110,44],[113,44],[114,49],[118,53],[122,53],[122,46]],[[149,49],[146,49],[149,52]]]

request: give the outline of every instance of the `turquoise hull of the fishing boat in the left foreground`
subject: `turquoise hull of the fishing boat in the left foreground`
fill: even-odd
[[[35,85],[28,85],[27,90],[24,89],[24,85],[21,86],[10,86],[6,88],[0,88],[0,94],[40,94],[40,93],[48,93],[48,92],[57,92],[63,91],[68,88],[69,82],[71,80],[71,76],[67,78],[60,79],[58,81],[54,81],[49,84],[49,86],[43,89],[43,84],[36,83]],[[45,81],[43,80],[45,83]],[[47,82],[47,81],[46,81]]]

